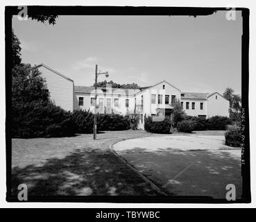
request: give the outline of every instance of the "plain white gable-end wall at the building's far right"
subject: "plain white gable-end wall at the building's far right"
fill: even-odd
[[[217,99],[216,99],[217,96]],[[222,117],[229,117],[228,109],[230,103],[218,93],[213,94],[207,99],[207,118],[219,115]]]

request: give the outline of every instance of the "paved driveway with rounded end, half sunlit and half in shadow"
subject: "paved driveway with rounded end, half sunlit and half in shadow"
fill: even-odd
[[[241,198],[241,151],[223,135],[167,135],[128,139],[113,150],[167,194],[225,198],[234,184]]]

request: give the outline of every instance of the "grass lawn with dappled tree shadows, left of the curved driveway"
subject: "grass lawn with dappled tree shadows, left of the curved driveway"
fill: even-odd
[[[160,195],[109,149],[122,139],[155,135],[106,131],[65,138],[12,139],[12,195],[19,184],[29,196]]]

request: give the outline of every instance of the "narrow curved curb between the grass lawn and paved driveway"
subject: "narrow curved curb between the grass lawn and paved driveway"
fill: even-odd
[[[135,139],[135,138],[131,138],[131,139]],[[133,171],[135,171],[135,173],[137,173],[137,175],[142,178],[145,182],[149,183],[149,185],[151,185],[152,189],[154,189],[155,191],[159,192],[160,194],[163,194],[164,196],[168,196],[164,191],[162,191],[162,189],[160,189],[159,187],[157,187],[157,185],[155,185],[155,183],[153,183],[151,180],[149,180],[148,178],[146,178],[146,176],[144,176],[142,173],[140,173],[135,167],[133,167],[132,164],[130,164],[126,159],[124,159],[123,157],[121,157],[120,155],[118,155],[114,150],[113,150],[113,145],[117,144],[118,142],[124,141],[124,140],[128,140],[128,139],[121,139],[117,142],[114,142],[112,144],[110,144],[110,151],[119,158],[119,160],[121,160],[121,162],[123,162],[124,164],[126,164],[126,166],[128,166],[130,169],[132,169]]]

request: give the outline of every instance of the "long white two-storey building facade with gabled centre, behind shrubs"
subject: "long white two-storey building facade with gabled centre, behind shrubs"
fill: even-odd
[[[51,100],[64,110],[84,109],[94,112],[94,87],[75,86],[74,81],[44,64],[38,66],[46,80]],[[173,103],[180,101],[189,116],[210,118],[229,117],[229,101],[218,92],[182,92],[166,80],[140,89],[114,89],[108,85],[97,89],[96,112],[139,114],[139,128],[144,128],[144,117],[170,114]]]

